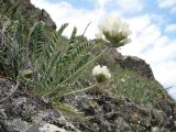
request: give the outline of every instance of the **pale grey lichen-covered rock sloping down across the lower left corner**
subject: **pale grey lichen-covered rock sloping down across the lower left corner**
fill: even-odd
[[[15,82],[0,79],[0,92],[9,95],[13,86]],[[0,132],[79,132],[59,111],[20,87],[1,98]]]

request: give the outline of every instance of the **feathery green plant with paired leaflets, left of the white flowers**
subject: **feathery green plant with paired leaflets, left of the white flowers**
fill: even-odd
[[[36,23],[30,33],[34,42],[34,48],[32,50],[33,78],[31,79],[34,84],[33,89],[40,96],[50,99],[56,99],[65,92],[72,92],[70,86],[73,86],[74,78],[111,48],[110,44],[108,46],[105,43],[97,44],[96,41],[87,41],[84,36],[77,36],[77,29],[74,28],[70,37],[65,42],[65,47],[57,50],[62,33],[67,25],[67,23],[63,24],[58,31],[54,32],[48,43],[43,41],[42,22]],[[116,34],[118,35],[118,33]],[[123,37],[127,38],[128,34]],[[111,40],[107,40],[106,43],[111,43]],[[117,44],[118,46],[121,45]],[[91,51],[97,48],[101,48],[101,51],[92,54]],[[88,88],[91,88],[91,86]]]

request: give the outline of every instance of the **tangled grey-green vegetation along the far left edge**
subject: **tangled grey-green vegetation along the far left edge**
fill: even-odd
[[[20,69],[24,67],[24,61],[28,54],[25,31],[24,26],[19,24],[20,21],[21,20],[12,21],[6,15],[0,15],[0,62],[3,69],[1,73],[14,79],[18,78]]]

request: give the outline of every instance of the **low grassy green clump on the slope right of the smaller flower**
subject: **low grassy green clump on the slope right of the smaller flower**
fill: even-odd
[[[141,76],[136,72],[117,66],[114,73],[113,90],[119,96],[140,103],[151,103],[167,95],[156,80]]]

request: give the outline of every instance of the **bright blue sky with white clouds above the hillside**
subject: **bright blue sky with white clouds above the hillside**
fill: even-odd
[[[69,22],[65,35],[74,26],[94,38],[98,23],[108,14],[121,16],[130,24],[132,43],[120,50],[139,56],[152,67],[155,78],[176,97],[176,0],[31,0],[45,9],[61,26]]]

